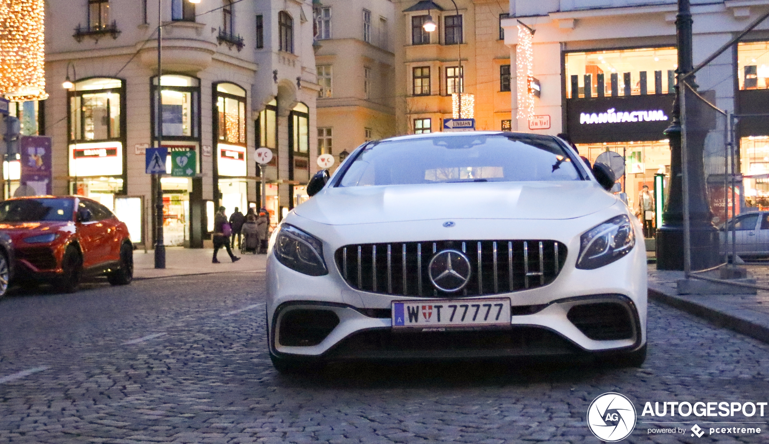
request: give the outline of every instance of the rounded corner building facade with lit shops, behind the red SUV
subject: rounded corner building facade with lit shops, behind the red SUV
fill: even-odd
[[[52,136],[54,194],[95,198],[128,223],[135,243],[151,244],[156,191],[145,151],[160,136],[169,163],[181,151],[194,168],[172,176],[169,164],[161,178],[165,244],[203,247],[219,205],[228,214],[261,207],[254,153],[269,147],[265,200],[277,223],[306,198],[316,169],[311,4],[159,5],[158,82],[158,2],[48,3],[39,132]],[[69,88],[59,86],[65,79]]]

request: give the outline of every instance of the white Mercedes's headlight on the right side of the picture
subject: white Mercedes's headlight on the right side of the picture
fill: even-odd
[[[577,268],[594,270],[630,253],[635,245],[635,232],[627,216],[612,217],[583,234]]]

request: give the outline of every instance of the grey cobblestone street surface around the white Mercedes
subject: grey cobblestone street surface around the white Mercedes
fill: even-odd
[[[599,442],[585,415],[611,391],[638,409],[624,442],[767,442],[769,412],[749,419],[761,435],[647,434],[664,426],[641,416],[647,401],[769,394],[769,346],[667,306],[650,304],[641,369],[334,364],[281,376],[263,276],[12,291],[0,301],[0,442]],[[695,420],[710,427],[676,425]]]

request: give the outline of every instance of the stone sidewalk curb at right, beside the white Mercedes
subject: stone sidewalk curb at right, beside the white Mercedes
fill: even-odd
[[[716,300],[717,295],[676,294],[672,288],[648,283],[651,300],[673,306],[711,323],[769,343],[769,314],[747,310],[732,303]]]

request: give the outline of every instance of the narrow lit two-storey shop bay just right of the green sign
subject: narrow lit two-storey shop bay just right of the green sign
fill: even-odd
[[[227,214],[235,207],[245,213],[248,210],[246,91],[233,83],[215,84],[215,88],[215,194]]]

